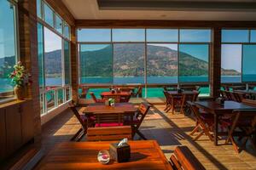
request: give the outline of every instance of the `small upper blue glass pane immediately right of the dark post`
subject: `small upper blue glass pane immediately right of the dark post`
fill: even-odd
[[[248,30],[222,30],[222,42],[249,42]]]

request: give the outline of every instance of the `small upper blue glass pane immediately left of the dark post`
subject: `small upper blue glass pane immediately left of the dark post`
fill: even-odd
[[[211,30],[180,30],[180,42],[211,42]]]

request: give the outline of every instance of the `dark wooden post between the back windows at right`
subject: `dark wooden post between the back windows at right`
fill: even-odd
[[[210,59],[211,97],[218,98],[221,77],[221,28],[212,29],[212,46]]]

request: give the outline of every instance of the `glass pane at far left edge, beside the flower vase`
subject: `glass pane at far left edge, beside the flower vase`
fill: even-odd
[[[15,6],[7,0],[0,1],[0,99],[13,91],[9,73],[16,62]],[[4,24],[3,24],[4,23]]]

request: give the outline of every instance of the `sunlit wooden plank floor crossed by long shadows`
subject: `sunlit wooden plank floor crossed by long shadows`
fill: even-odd
[[[194,142],[189,132],[195,122],[188,116],[165,113],[163,109],[164,105],[154,105],[140,129],[148,139],[158,141],[167,158],[177,145],[182,144],[187,145],[207,169],[256,169],[256,150],[249,144],[246,151],[236,154],[231,145],[214,146],[204,137]],[[56,143],[71,139],[78,129],[79,122],[71,111],[61,113],[43,127],[45,152]]]

